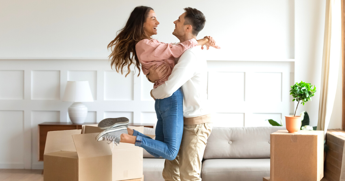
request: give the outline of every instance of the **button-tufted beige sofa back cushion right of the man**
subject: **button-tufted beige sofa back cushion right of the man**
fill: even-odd
[[[214,127],[207,139],[204,159],[270,158],[270,133],[285,127]]]

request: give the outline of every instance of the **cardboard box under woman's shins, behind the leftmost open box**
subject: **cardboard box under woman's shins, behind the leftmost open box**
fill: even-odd
[[[128,127],[141,133],[144,132],[142,126]],[[82,134],[100,133],[102,131],[104,130],[99,129],[97,124],[82,126]],[[117,146],[110,143],[109,147],[112,152],[112,181],[142,178],[142,148],[129,143],[120,143]],[[114,150],[112,150],[113,147]]]

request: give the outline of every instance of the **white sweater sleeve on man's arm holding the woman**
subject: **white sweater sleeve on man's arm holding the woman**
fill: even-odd
[[[170,97],[178,88],[197,74],[198,63],[196,56],[191,51],[186,51],[178,63],[172,69],[168,80],[152,90],[152,95],[156,99]]]

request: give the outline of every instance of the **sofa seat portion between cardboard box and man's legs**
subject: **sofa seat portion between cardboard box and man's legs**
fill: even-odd
[[[162,176],[164,162],[164,158],[144,158],[142,171],[145,181],[164,181]]]

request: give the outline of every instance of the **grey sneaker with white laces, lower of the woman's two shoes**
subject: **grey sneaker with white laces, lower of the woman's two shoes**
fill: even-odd
[[[128,134],[126,126],[120,126],[120,127],[104,130],[96,136],[96,140],[97,141],[103,141],[103,140],[111,141],[111,142],[114,142],[116,145],[118,145],[120,143],[120,140],[121,140],[120,135],[122,133]]]

